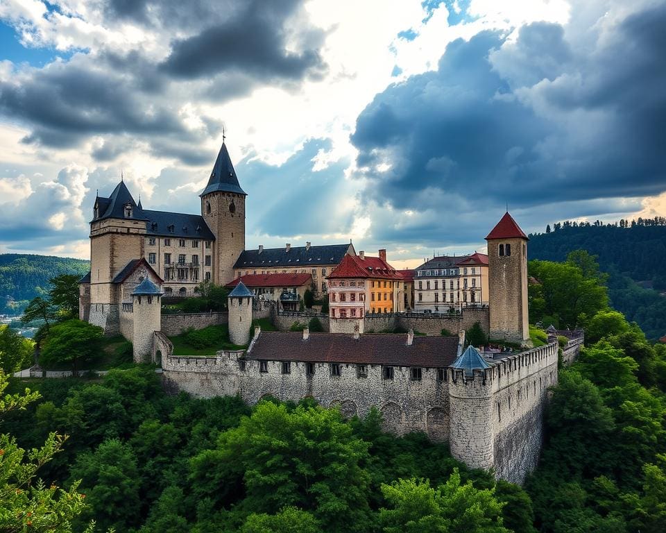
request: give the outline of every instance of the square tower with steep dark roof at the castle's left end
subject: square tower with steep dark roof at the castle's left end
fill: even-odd
[[[146,219],[122,181],[109,198],[95,198],[90,222],[88,321],[105,335],[119,333],[119,295],[114,278],[130,260],[144,257]]]

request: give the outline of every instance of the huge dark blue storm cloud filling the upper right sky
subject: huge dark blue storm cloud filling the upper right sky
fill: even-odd
[[[437,71],[388,87],[357,119],[368,199],[478,210],[663,192],[664,27],[660,6],[590,49],[544,23],[515,44],[499,33],[452,42]]]

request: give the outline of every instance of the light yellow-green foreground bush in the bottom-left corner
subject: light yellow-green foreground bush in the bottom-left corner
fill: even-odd
[[[0,416],[25,409],[40,397],[29,389],[2,396],[7,384],[7,376],[0,372]],[[0,531],[71,532],[72,521],[84,508],[85,495],[78,493],[78,482],[65,491],[37,480],[37,472],[66,439],[51,433],[44,446],[26,453],[12,436],[0,434]]]

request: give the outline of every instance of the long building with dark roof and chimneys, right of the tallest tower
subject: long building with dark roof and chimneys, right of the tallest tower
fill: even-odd
[[[345,255],[356,255],[354,245],[327,244],[324,246],[291,246],[246,250],[234,264],[234,278],[259,274],[309,274],[316,298],[327,291],[326,276],[342,261]]]

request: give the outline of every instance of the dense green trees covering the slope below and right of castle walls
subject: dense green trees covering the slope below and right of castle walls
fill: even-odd
[[[666,345],[608,307],[588,253],[529,267],[541,278],[531,321],[574,321],[586,346],[552,388],[524,487],[470,471],[425,434],[384,433],[378,412],[347,420],[311,399],[168,396],[155,369],[131,366],[8,382],[0,531],[89,532],[93,520],[136,533],[665,531]],[[52,291],[43,332],[58,357],[101,337],[69,318],[63,296]],[[6,386],[0,373],[0,396]]]

